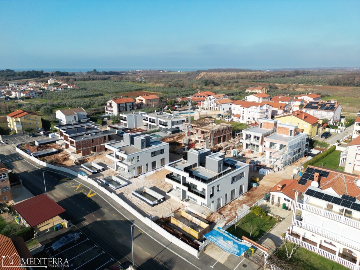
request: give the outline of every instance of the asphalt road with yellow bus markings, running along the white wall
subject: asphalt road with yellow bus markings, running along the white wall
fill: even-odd
[[[76,229],[94,241],[114,261],[131,261],[130,225],[135,223],[134,262],[138,269],[253,269],[249,262],[237,266],[237,261],[234,261],[234,267],[229,268],[204,253],[199,259],[189,255],[136,220],[112,199],[103,198],[99,190],[82,183],[81,179],[73,180],[71,176],[51,171],[43,174],[39,165],[15,153],[14,145],[0,146],[0,158],[19,174],[23,185],[34,195],[45,192],[45,176],[47,195],[66,210],[63,219],[71,220]],[[41,244],[50,242],[54,242],[54,239],[45,240]],[[241,261],[241,258],[237,259]]]

